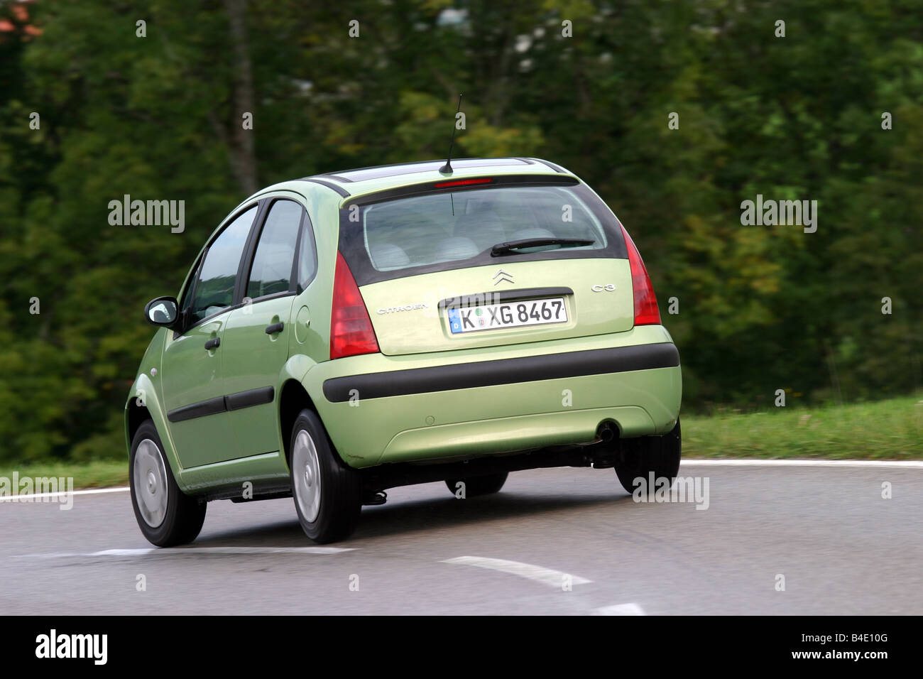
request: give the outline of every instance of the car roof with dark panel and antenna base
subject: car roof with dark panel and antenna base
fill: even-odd
[[[443,175],[439,168],[445,159],[360,167],[354,170],[327,172],[302,177],[299,181],[313,182],[331,188],[342,198],[352,198],[389,188],[398,188],[448,178],[485,175],[551,175],[572,174],[560,165],[539,158],[457,158],[452,160],[452,174]]]

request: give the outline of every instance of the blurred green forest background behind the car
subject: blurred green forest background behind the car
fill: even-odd
[[[141,310],[225,214],[284,179],[441,158],[459,92],[457,156],[564,164],[617,212],[687,411],[920,387],[919,0],[6,0],[0,460],[124,456]],[[758,193],[817,200],[817,232],[742,226]],[[185,232],[108,224],[125,194],[185,200]]]

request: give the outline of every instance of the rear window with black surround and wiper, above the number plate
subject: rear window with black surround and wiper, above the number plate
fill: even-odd
[[[492,254],[532,238],[593,242]],[[626,256],[615,215],[581,184],[436,190],[347,206],[341,250],[359,285],[497,261]]]

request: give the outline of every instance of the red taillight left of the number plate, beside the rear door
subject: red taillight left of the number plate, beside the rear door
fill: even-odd
[[[378,340],[366,303],[340,252],[333,273],[333,309],[330,311],[330,358],[378,353]]]

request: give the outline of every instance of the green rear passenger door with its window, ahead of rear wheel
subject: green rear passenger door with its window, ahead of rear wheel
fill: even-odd
[[[224,386],[228,414],[241,456],[282,450],[279,386],[294,333],[292,307],[305,278],[295,253],[316,266],[313,236],[301,203],[276,197],[263,212],[244,279],[244,304],[231,313],[224,331]]]

